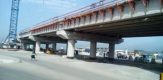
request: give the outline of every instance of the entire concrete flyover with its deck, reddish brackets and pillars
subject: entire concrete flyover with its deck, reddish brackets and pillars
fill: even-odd
[[[91,42],[90,58],[96,57],[97,42],[109,43],[109,59],[114,59],[115,44],[123,42],[122,38],[162,36],[162,20],[163,0],[103,0],[23,30],[19,39],[34,41],[36,53],[40,42],[68,43],[70,58],[76,40]]]

